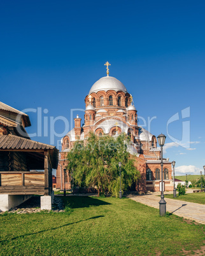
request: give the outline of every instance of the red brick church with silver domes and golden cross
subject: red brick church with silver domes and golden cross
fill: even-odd
[[[97,136],[109,134],[118,136],[125,132],[131,138],[129,152],[136,159],[136,169],[141,173],[141,180],[136,184],[137,191],[159,191],[161,179],[160,148],[157,148],[157,138],[138,125],[138,114],[133,104],[132,95],[125,85],[117,78],[109,75],[110,63],[106,62],[107,76],[100,78],[92,85],[85,97],[84,123],[81,118],[74,118],[74,128],[62,138],[62,151],[56,172],[57,189],[71,189],[71,172],[64,169],[67,166],[67,153],[76,140],[84,140],[89,132]],[[164,190],[173,190],[171,178],[171,162],[163,159]],[[65,181],[65,182],[64,182]]]

